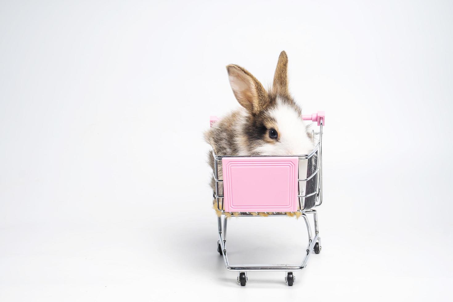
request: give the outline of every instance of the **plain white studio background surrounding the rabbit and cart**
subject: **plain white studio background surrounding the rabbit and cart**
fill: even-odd
[[[448,301],[450,1],[1,1],[0,301]],[[321,254],[217,254],[202,132],[280,51],[326,110]],[[232,262],[298,262],[302,221],[233,219]],[[302,240],[303,241],[302,241]]]

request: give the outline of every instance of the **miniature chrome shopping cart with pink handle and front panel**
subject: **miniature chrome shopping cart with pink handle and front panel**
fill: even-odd
[[[223,256],[226,269],[238,272],[237,282],[245,286],[249,271],[284,271],[285,281],[292,286],[294,271],[307,266],[312,252],[321,251],[318,234],[318,215],[314,209],[323,202],[322,195],[322,138],[325,114],[302,115],[303,120],[317,122],[319,132],[312,131],[315,147],[310,154],[294,156],[219,156],[214,158],[213,192],[218,217],[217,251]],[[211,117],[211,125],[217,120]],[[226,225],[228,216],[297,216],[302,217],[308,231],[308,245],[300,265],[260,264],[233,265],[228,261],[226,249]],[[313,215],[314,233],[308,221]],[[223,229],[222,229],[223,220]]]

